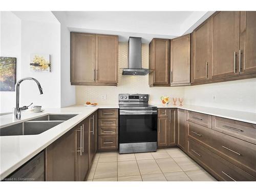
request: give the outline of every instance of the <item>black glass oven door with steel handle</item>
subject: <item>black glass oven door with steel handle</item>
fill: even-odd
[[[157,110],[120,110],[119,143],[157,141]]]

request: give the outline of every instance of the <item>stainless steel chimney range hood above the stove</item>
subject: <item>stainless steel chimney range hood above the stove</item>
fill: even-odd
[[[129,37],[128,68],[123,68],[122,75],[146,75],[149,69],[143,69],[141,63],[141,37]]]

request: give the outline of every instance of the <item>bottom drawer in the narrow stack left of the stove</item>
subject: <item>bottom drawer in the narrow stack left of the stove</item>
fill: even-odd
[[[118,136],[117,135],[102,135],[99,136],[98,149],[99,150],[113,150],[118,148]]]

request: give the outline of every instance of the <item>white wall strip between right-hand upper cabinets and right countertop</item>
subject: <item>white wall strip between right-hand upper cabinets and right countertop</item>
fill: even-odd
[[[256,78],[185,87],[184,102],[256,113]]]

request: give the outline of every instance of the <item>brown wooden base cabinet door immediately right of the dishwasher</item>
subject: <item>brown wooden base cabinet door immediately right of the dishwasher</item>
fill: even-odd
[[[46,148],[46,181],[75,181],[76,131],[74,127]]]

